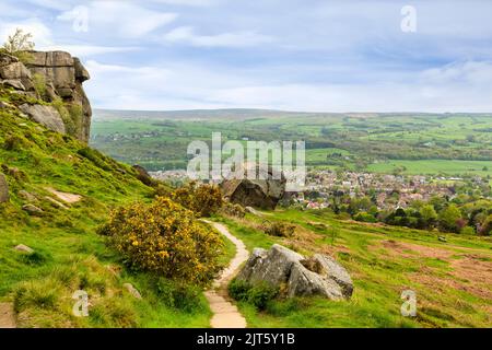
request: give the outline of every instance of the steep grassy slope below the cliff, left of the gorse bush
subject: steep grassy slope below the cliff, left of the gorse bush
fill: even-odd
[[[22,103],[3,90],[0,100]],[[10,188],[10,201],[0,205],[0,302],[14,303],[19,327],[209,326],[200,290],[125,269],[95,233],[113,208],[150,200],[151,188],[132,168],[23,118],[13,105],[0,109],[0,164]],[[82,200],[60,208],[48,188]],[[40,215],[22,210],[30,202],[22,191],[36,197]],[[19,244],[34,253],[15,250]],[[141,300],[122,287],[128,282]],[[72,313],[81,289],[89,293],[89,317]]]

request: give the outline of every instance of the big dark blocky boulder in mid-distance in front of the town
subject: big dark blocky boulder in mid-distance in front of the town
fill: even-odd
[[[274,209],[285,192],[285,178],[274,178],[271,172],[266,179],[244,178],[225,179],[221,183],[224,198],[243,207]]]

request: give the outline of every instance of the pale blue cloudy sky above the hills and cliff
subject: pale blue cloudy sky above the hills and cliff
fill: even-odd
[[[93,107],[492,112],[490,0],[1,0]]]

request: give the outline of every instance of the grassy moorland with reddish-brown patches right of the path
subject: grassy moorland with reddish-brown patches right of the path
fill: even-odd
[[[249,250],[280,243],[302,254],[335,256],[354,281],[350,301],[293,299],[265,311],[239,303],[250,327],[491,327],[492,240],[342,221],[296,210],[220,219]],[[263,220],[296,224],[293,238],[268,236]],[[400,314],[403,290],[417,293],[417,317]]]

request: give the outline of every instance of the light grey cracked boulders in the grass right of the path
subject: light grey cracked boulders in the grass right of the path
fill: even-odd
[[[349,273],[331,257],[316,254],[306,259],[278,244],[270,250],[254,249],[237,279],[250,284],[266,282],[284,287],[290,298],[323,295],[342,300],[349,299],[353,292]]]

